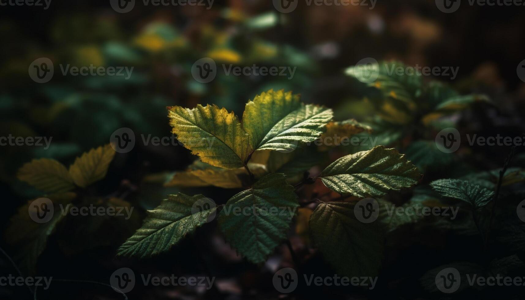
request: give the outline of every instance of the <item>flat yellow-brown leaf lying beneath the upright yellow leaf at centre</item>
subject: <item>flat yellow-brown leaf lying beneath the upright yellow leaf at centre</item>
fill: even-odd
[[[265,165],[248,162],[248,168],[260,178],[266,174]],[[223,169],[197,161],[183,172],[175,172],[173,177],[164,183],[165,187],[215,187],[224,189],[241,188],[248,182],[249,174],[245,168]]]

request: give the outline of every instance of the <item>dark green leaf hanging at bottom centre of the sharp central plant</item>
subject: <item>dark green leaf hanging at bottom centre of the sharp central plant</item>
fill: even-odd
[[[286,239],[298,206],[297,195],[286,183],[285,175],[272,173],[230,198],[218,222],[226,240],[241,255],[261,263]],[[243,213],[235,213],[239,210]]]

